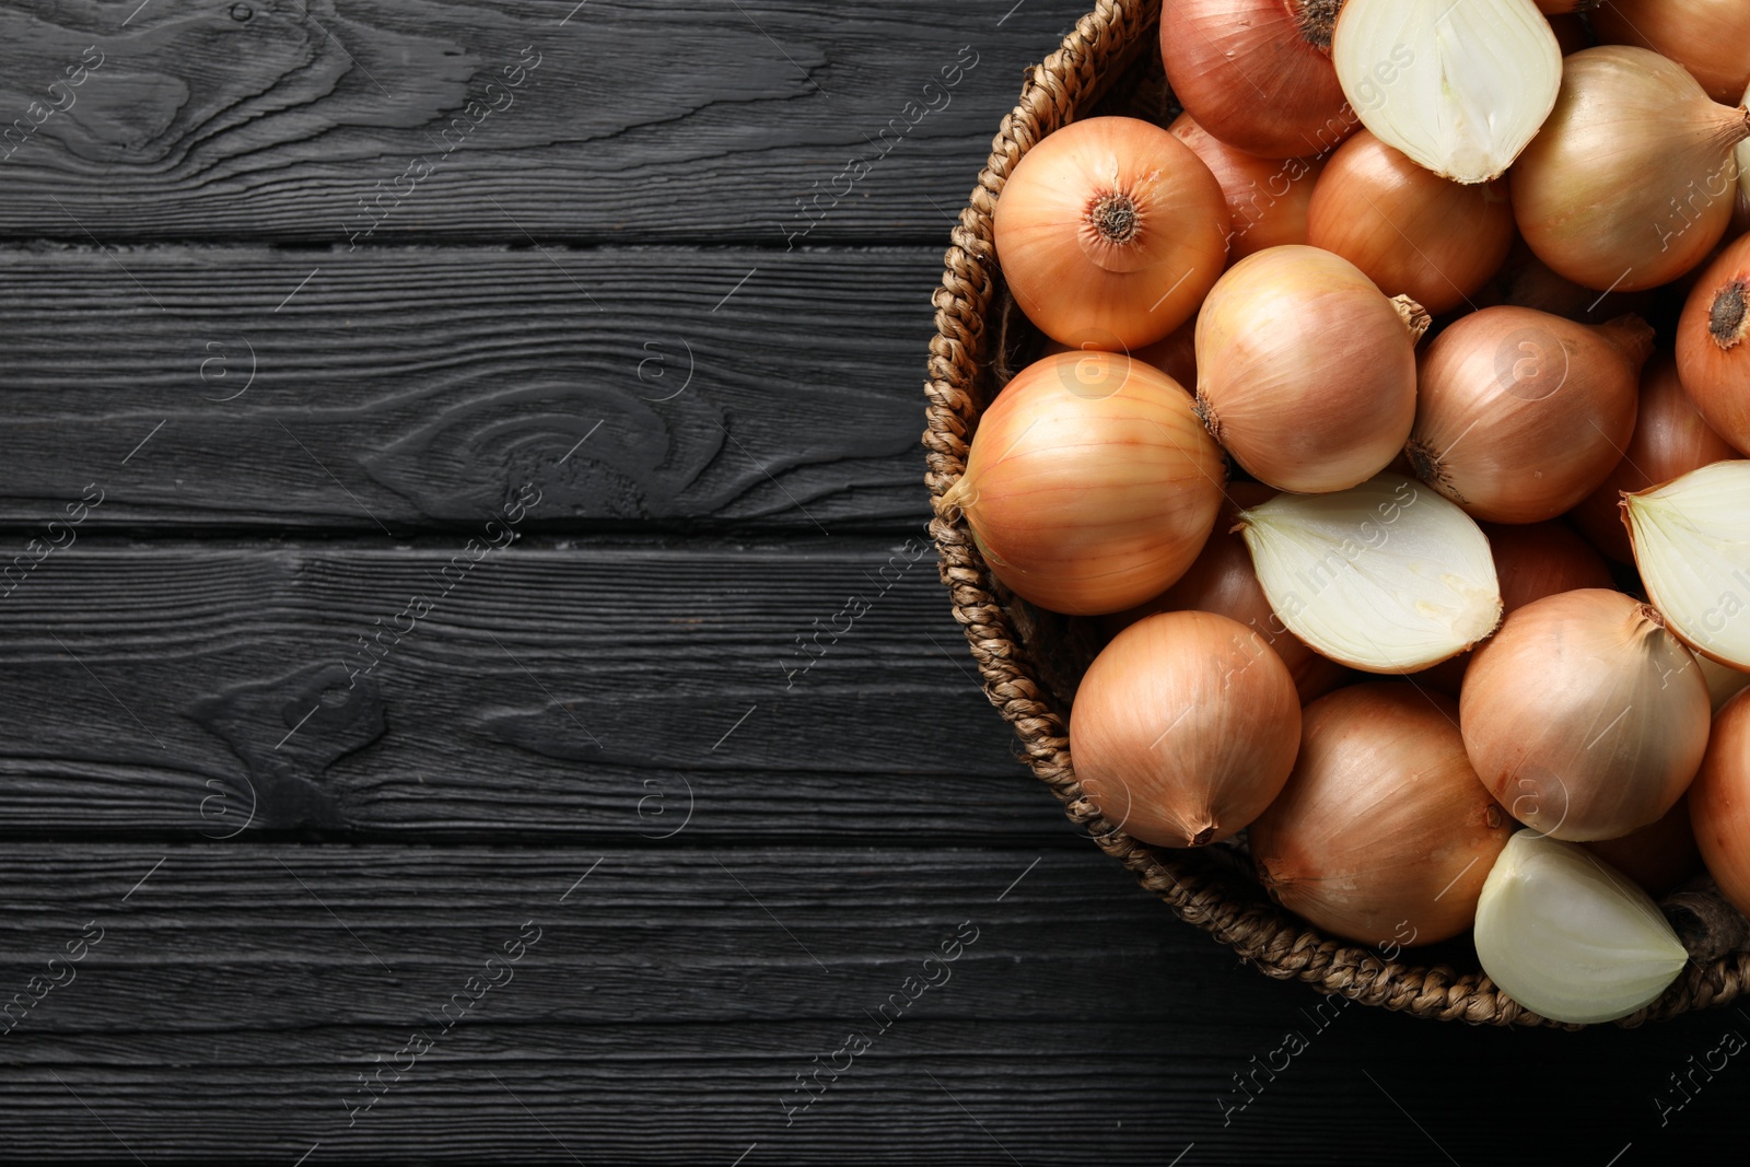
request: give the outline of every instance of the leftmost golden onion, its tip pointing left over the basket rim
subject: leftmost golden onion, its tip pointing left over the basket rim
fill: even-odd
[[[1178,381],[1122,353],[1059,353],[990,404],[943,506],[966,513],[1017,595],[1092,616],[1185,574],[1222,507],[1223,476]]]

